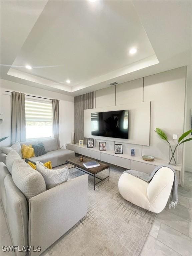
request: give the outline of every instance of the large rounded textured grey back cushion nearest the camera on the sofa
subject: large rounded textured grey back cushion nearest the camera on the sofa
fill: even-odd
[[[12,177],[15,185],[27,199],[46,191],[43,176],[22,159],[14,162],[12,166]]]

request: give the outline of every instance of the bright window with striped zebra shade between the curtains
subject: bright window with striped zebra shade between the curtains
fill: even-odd
[[[53,137],[52,103],[25,100],[25,117],[27,140]]]

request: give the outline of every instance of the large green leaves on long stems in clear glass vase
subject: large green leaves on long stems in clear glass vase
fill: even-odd
[[[177,143],[177,145],[175,146],[174,151],[172,151],[171,144],[169,143],[169,141],[168,141],[168,139],[167,139],[167,135],[166,135],[161,129],[159,129],[159,128],[156,128],[156,131],[155,131],[155,132],[159,135],[159,137],[160,137],[161,139],[165,140],[165,141],[169,144],[169,146],[170,146],[171,153],[172,153],[172,157],[171,157],[170,160],[169,160],[169,164],[170,164],[172,158],[174,159],[174,161],[175,161],[175,163],[176,163],[176,160],[175,160],[175,157],[174,157],[176,148],[177,148],[179,145],[181,145],[182,143],[192,140],[192,138],[183,140],[187,135],[189,135],[189,134],[192,132],[192,130],[189,130],[189,131],[187,131],[187,132],[184,132],[184,133],[179,137],[178,143]]]

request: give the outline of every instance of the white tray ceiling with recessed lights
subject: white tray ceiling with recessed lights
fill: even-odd
[[[191,64],[191,31],[191,1],[1,1],[1,78],[80,95]]]

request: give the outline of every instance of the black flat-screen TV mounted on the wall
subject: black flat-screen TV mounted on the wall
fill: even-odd
[[[128,139],[128,110],[91,113],[91,135]]]

